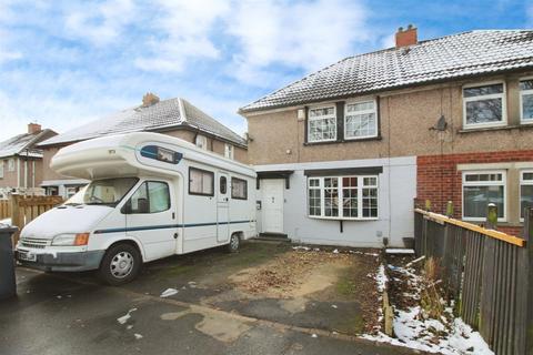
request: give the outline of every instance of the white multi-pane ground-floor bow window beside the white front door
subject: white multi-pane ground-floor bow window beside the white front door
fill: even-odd
[[[378,176],[309,178],[310,217],[378,219]]]

